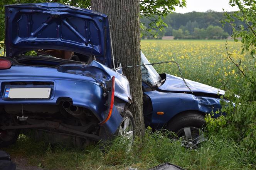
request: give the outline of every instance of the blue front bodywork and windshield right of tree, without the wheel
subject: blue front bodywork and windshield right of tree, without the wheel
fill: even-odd
[[[142,52],[141,61],[143,64],[149,63]],[[182,78],[166,73],[158,75],[151,65],[142,66],[141,71],[146,127],[162,129],[175,116],[191,111],[205,115],[221,110],[220,96],[224,95],[223,90],[185,79],[189,89]],[[218,116],[214,114],[213,117]]]

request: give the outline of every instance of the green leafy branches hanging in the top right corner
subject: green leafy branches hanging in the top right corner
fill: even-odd
[[[239,10],[234,13],[225,13],[222,23],[229,23],[232,26],[232,38],[236,42],[237,38],[242,38],[242,52],[250,51],[254,56],[256,53],[256,0],[229,0],[229,5],[236,6]],[[246,25],[235,23],[235,18]]]

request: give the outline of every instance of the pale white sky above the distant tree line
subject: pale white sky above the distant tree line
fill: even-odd
[[[231,7],[228,2],[229,0],[186,0],[187,8],[175,7],[175,12],[177,13],[187,13],[187,12],[205,12],[207,10],[214,10],[217,12],[224,11],[236,11],[236,7]]]

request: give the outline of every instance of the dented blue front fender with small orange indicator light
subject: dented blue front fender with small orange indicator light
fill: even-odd
[[[216,112],[221,109],[219,98],[200,97],[188,93],[159,92],[157,90],[145,92],[153,106],[152,127],[162,128],[178,113],[195,110],[202,113]],[[157,115],[157,112],[164,112]],[[215,114],[214,117],[219,115]]]

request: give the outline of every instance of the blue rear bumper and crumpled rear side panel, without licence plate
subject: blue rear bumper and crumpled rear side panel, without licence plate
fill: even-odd
[[[74,63],[73,68],[79,64]],[[72,64],[69,65],[72,67]],[[115,96],[123,100],[125,103],[130,103],[130,88],[129,82],[125,76],[109,69],[108,67],[93,61],[88,68],[101,70],[107,77],[115,76]],[[86,67],[84,69],[86,70]],[[88,70],[90,70],[88,69]],[[93,69],[91,69],[93,70]],[[6,82],[53,82],[51,97],[47,100],[42,99],[20,99],[8,100],[4,99]],[[16,85],[17,88],[19,85]],[[15,88],[14,87],[14,88]],[[32,86],[31,86],[32,87]],[[34,87],[32,87],[34,88]],[[56,105],[59,98],[71,98],[73,105],[88,108],[94,115],[102,121],[105,118],[106,98],[103,97],[104,90],[99,84],[99,80],[92,76],[83,76],[79,74],[59,72],[57,68],[47,67],[29,67],[29,66],[12,66],[8,70],[0,70],[0,105],[8,104],[42,104]],[[114,107],[112,115],[108,122],[104,123],[104,127],[110,133],[115,133],[123,118],[118,110]]]

